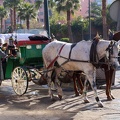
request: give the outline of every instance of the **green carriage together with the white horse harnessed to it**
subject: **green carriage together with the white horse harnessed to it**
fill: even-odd
[[[78,72],[83,71],[85,73],[85,76],[87,76],[86,80],[89,80],[91,87],[95,92],[96,95],[95,99],[98,103],[98,106],[103,107],[101,101],[97,96],[96,83],[95,83],[96,69],[94,67],[94,64],[97,63],[96,65],[99,66],[103,65],[102,67],[105,69],[106,81],[108,82],[106,89],[107,98],[113,99],[114,97],[111,95],[110,92],[110,88],[111,88],[110,76],[112,76],[113,74],[114,71],[113,69],[116,68],[116,66],[118,66],[118,60],[117,60],[118,52],[119,52],[118,45],[120,44],[120,41],[118,42],[112,42],[106,40],[98,40],[98,41],[99,42],[97,46],[98,49],[97,56],[99,60],[103,58],[102,59],[103,61],[96,62],[96,61],[90,61],[89,58],[91,51],[90,48],[91,46],[94,46],[92,44],[92,41],[81,41],[76,44],[72,44],[72,43],[64,43],[55,40],[49,43],[48,38],[44,39],[44,37],[42,37],[42,39],[40,40],[39,36],[34,36],[34,35],[29,36],[29,40],[17,39],[16,41],[17,53],[15,56],[8,58],[5,79],[11,78],[14,91],[18,95],[22,95],[27,91],[29,81],[33,81],[34,83],[41,85],[48,84],[49,94],[52,98],[53,94],[51,92],[51,76],[53,74],[53,70],[55,70],[56,74],[55,74],[54,83],[57,86],[58,96],[61,99],[62,89],[58,81],[56,81],[57,80],[56,78],[58,78],[58,74],[60,74],[61,72],[61,70],[59,71],[59,68],[61,69],[62,66],[63,69],[68,71],[69,70],[78,71]],[[44,67],[43,67],[43,60],[44,60]],[[42,70],[40,71],[40,69]],[[46,75],[47,81],[46,78],[44,79],[44,75]],[[83,93],[84,93],[85,102],[88,102],[85,94],[86,87],[84,88]]]

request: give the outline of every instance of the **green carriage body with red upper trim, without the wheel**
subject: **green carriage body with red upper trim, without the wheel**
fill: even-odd
[[[42,49],[48,41],[18,41],[17,55],[9,57],[5,71],[5,79],[11,79],[11,73],[18,66],[43,67]]]

